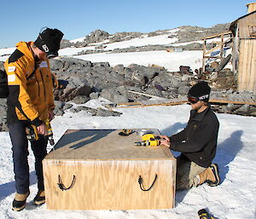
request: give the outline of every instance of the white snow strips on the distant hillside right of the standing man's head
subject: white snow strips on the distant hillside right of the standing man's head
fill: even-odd
[[[109,49],[125,49],[131,46],[145,46],[145,45],[181,45],[187,43],[175,44],[177,42],[177,37],[175,32],[178,29],[173,29],[169,31],[169,34],[163,34],[155,37],[148,37],[147,35],[139,38],[132,38],[131,40],[117,42],[117,43],[107,43],[105,50]],[[174,36],[173,36],[174,35]],[[170,36],[172,38],[170,38]],[[72,42],[81,41],[83,38],[73,40]],[[191,43],[191,42],[190,42]],[[202,42],[201,42],[202,43]],[[95,44],[95,43],[94,43]],[[99,44],[99,43],[97,43]],[[123,64],[124,66],[129,66],[131,63],[138,65],[148,66],[148,65],[158,65],[164,66],[170,72],[179,71],[179,66],[190,66],[191,69],[201,67],[201,57],[202,51],[184,51],[184,52],[167,52],[162,51],[148,51],[148,52],[132,52],[132,53],[99,53],[90,55],[77,55],[78,52],[86,49],[94,49],[95,46],[84,47],[84,48],[68,48],[61,49],[59,54],[63,56],[76,55],[76,58],[86,60],[86,61],[108,61],[110,66],[116,66]]]

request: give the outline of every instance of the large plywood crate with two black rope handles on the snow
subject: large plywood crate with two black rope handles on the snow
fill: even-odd
[[[136,147],[134,142],[142,141],[138,132],[121,136],[119,131],[67,130],[43,161],[48,209],[174,206],[176,159],[169,148]],[[154,130],[154,134],[159,133]]]

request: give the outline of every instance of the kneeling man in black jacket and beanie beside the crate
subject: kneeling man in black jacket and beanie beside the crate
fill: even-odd
[[[212,164],[218,139],[218,118],[208,105],[211,88],[201,81],[189,89],[192,110],[187,127],[176,135],[161,135],[161,144],[181,152],[177,157],[176,189],[197,187],[206,182],[218,186],[218,165]]]

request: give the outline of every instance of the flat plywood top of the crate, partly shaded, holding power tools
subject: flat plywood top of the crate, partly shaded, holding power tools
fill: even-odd
[[[140,130],[128,136],[121,130],[67,130],[44,160],[173,159],[168,147],[137,147]],[[158,130],[151,130],[160,135]]]

